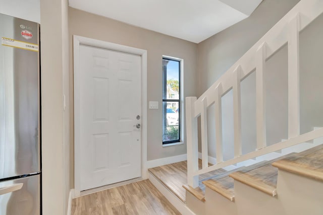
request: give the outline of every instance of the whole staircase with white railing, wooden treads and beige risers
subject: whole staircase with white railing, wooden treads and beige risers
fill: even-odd
[[[319,145],[322,143],[323,128],[314,127],[311,131],[300,133],[299,84],[299,34],[322,13],[323,1],[300,1],[199,98],[186,98],[188,185],[184,186],[185,203],[194,213],[323,214],[323,204],[320,202],[323,199],[323,147]],[[286,44],[288,134],[287,139],[267,144],[264,84],[266,63]],[[253,73],[256,77],[256,146],[252,152],[243,154],[245,146],[241,140],[240,84]],[[229,91],[233,94],[234,119],[234,156],[230,159],[224,156],[222,122],[222,97]],[[212,119],[208,116],[210,107],[215,113]],[[215,131],[208,131],[208,120],[215,121]],[[215,132],[216,142],[208,142],[208,132]],[[201,168],[198,167],[199,138]],[[208,147],[210,144],[215,146],[214,152],[208,151],[213,148]],[[210,154],[216,155],[212,165],[209,165]],[[277,158],[271,160],[272,155]],[[259,163],[255,162],[248,167],[239,166],[252,159]],[[208,179],[199,178],[202,174],[232,165],[237,168]]]

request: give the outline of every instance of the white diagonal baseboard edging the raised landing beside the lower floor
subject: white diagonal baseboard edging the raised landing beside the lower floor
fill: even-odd
[[[180,211],[181,214],[185,215],[195,215],[194,212],[192,212],[183,201],[181,201],[174,193],[172,193],[169,189],[167,189],[163,184],[161,184],[152,174],[149,173],[149,181],[163,194],[167,200],[173,204],[174,207],[178,211]]]

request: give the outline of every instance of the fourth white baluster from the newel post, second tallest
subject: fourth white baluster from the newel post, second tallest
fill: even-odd
[[[256,52],[256,132],[257,150],[266,147],[266,109],[265,109],[265,73],[266,43],[262,43]]]

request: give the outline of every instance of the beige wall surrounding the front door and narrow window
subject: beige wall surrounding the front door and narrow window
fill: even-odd
[[[69,9],[70,62],[73,35],[127,45],[147,50],[147,103],[158,101],[159,109],[147,109],[147,160],[186,154],[186,145],[163,147],[161,140],[161,67],[162,55],[184,59],[184,97],[196,96],[197,44],[185,40],[130,26],[112,19]],[[164,25],[165,23],[160,23]],[[167,24],[165,24],[167,25]],[[70,90],[73,95],[73,67],[70,66]],[[71,96],[71,122],[73,122],[73,96]],[[148,107],[147,107],[148,108]],[[185,130],[185,129],[184,129]],[[73,123],[71,123],[71,133]],[[184,135],[185,136],[185,135]],[[73,167],[73,135],[71,135],[71,164]],[[73,174],[73,169],[71,171]]]

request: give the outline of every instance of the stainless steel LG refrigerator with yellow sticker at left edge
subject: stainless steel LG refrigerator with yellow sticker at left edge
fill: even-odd
[[[0,214],[40,214],[39,24],[0,14]]]

